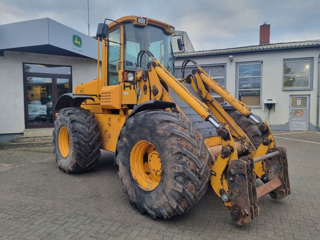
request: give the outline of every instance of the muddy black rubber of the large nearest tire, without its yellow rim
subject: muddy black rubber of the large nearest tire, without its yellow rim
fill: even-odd
[[[160,137],[161,141],[177,143],[177,146],[168,144],[168,152],[172,153],[172,159],[175,161],[171,168],[165,168],[165,171],[167,171],[166,174],[170,174],[172,183],[166,183],[170,187],[162,189],[163,194],[158,199],[154,199],[155,204],[150,204],[148,199],[137,197],[136,188],[132,187],[136,183],[131,172],[123,167],[129,164],[129,159],[125,159],[127,157],[123,153],[132,147],[130,134],[139,124],[154,129],[156,136],[164,136]],[[166,128],[168,129],[165,130]],[[124,192],[128,194],[131,204],[137,206],[141,213],[148,213],[152,218],[168,219],[186,212],[204,195],[207,189],[210,178],[209,152],[204,147],[204,138],[195,130],[194,123],[185,119],[181,114],[145,111],[135,115],[121,130],[117,150],[118,177],[123,183]],[[130,177],[127,176],[128,174]],[[128,180],[129,178],[131,180]]]

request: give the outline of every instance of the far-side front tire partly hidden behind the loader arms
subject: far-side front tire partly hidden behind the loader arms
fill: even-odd
[[[243,116],[238,110],[226,110],[229,116],[238,124],[238,126],[247,134],[248,138],[251,140],[253,146],[258,148],[262,142],[261,132],[258,129],[257,124],[255,124],[250,118]],[[256,119],[263,123],[260,116],[252,114]]]

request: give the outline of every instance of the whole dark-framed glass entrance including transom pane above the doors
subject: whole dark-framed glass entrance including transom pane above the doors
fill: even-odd
[[[53,127],[55,103],[72,92],[71,66],[23,64],[26,128]]]

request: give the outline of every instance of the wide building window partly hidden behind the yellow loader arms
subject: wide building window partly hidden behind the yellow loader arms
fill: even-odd
[[[226,67],[224,65],[215,65],[215,66],[202,66],[204,71],[214,80],[216,81],[219,85],[225,88],[226,86]],[[180,69],[180,68],[179,68]],[[188,76],[188,74],[191,74],[192,70],[191,69],[185,69],[184,71],[184,76]],[[175,77],[177,79],[181,79],[181,70],[176,70],[175,71]],[[219,103],[224,103],[225,101],[223,98],[221,98],[216,92],[212,91],[212,97],[217,100]]]

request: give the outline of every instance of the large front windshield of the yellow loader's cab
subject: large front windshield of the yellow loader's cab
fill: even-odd
[[[174,75],[171,35],[164,29],[155,25],[145,27],[134,26],[132,23],[124,24],[124,66],[134,66],[141,50],[149,50],[157,60]],[[143,54],[142,67],[147,69],[150,61],[147,54]]]

